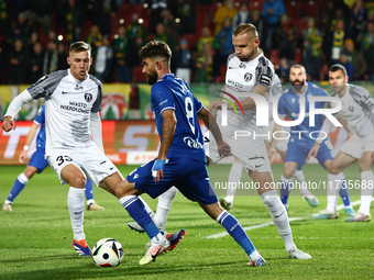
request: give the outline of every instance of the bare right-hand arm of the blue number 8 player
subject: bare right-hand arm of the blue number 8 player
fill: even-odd
[[[229,146],[229,144],[223,142],[221,131],[218,127],[213,115],[206,108],[202,108],[200,112],[198,112],[197,116],[202,120],[204,124],[208,127],[208,130],[210,130],[211,134],[213,135],[218,145],[219,155],[229,156],[231,153],[231,147]]]

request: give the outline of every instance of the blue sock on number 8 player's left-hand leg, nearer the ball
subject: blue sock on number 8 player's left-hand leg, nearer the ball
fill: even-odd
[[[143,202],[136,195],[127,195],[119,200],[130,216],[146,232],[150,239],[160,234],[157,226],[153,223],[146,212]]]

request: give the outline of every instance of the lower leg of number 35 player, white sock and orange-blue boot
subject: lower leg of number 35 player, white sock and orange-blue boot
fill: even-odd
[[[74,233],[74,239],[72,243],[73,248],[79,256],[91,256],[91,249],[87,245],[84,232],[85,189],[70,187],[67,194],[67,206]]]

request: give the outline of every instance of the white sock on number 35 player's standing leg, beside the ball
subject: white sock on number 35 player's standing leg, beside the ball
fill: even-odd
[[[67,194],[67,208],[70,213],[74,239],[86,239],[86,235],[84,233],[85,189],[69,188],[69,192]]]

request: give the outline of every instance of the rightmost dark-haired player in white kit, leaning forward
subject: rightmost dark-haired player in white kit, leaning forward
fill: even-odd
[[[344,66],[332,65],[329,69],[329,82],[334,97],[339,97],[342,115],[348,124],[354,130],[354,136],[349,138],[340,148],[337,157],[332,160],[329,172],[339,173],[348,166],[359,160],[361,172],[361,205],[359,211],[345,222],[370,222],[370,205],[374,188],[373,152],[374,152],[374,99],[366,89],[348,83]],[[323,123],[319,139],[329,134],[333,124],[327,119]],[[320,141],[311,147],[308,157],[317,155]],[[338,195],[334,186],[328,189],[328,195],[332,203],[337,204]],[[328,210],[326,210],[328,211]]]

